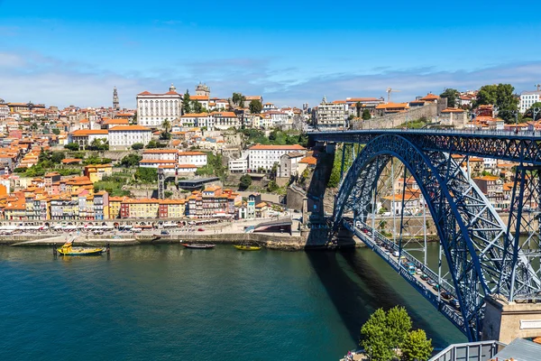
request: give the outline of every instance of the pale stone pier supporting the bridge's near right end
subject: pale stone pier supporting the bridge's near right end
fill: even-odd
[[[496,339],[509,344],[515,338],[541,336],[541,303],[509,302],[491,296],[485,301],[483,340]]]

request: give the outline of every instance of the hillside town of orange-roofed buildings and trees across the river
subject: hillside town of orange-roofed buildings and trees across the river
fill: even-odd
[[[213,97],[201,83],[193,95],[172,84],[162,93],[142,91],[134,95],[135,108],[120,106],[116,88],[112,106],[102,107],[60,109],[0,99],[0,218],[248,219],[300,210],[302,201],[291,201],[289,190],[306,196],[325,155],[308,148],[307,132],[541,131],[539,86],[520,95],[508,86],[445,89],[401,103],[392,101],[398,90],[388,88],[387,99],[324,96],[320,104],[301,108],[275,106],[261,95]],[[495,208],[509,208],[517,164],[470,157],[466,169],[457,157]],[[402,191],[385,195],[383,213],[418,213],[424,201],[415,180],[395,182],[397,190],[408,189],[408,197]],[[310,208],[316,207],[323,208]]]

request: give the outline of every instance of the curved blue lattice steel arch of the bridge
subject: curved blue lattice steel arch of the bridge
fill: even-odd
[[[448,153],[422,152],[399,134],[373,139],[344,177],[336,199],[335,227],[348,208],[364,209],[366,215],[371,191],[391,157],[405,164],[426,199],[461,304],[463,331],[468,338],[478,339],[484,297],[499,289],[500,273],[506,268],[502,262],[507,229],[488,199]]]

